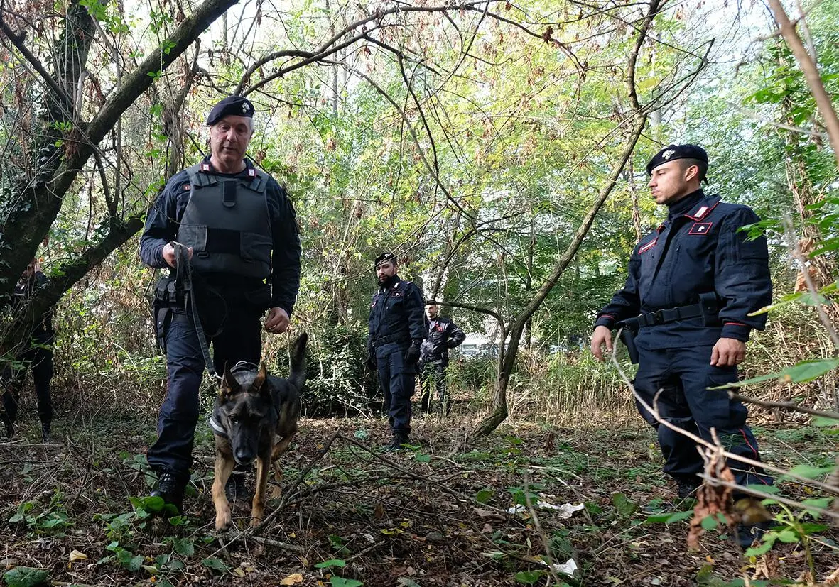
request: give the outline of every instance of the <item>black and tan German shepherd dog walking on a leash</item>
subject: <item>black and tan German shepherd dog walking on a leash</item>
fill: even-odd
[[[225,366],[221,387],[213,408],[211,425],[216,436],[215,478],[212,501],[216,506],[216,530],[230,527],[230,504],[224,486],[235,465],[257,461],[257,487],[251,507],[251,525],[257,526],[265,513],[268,466],[274,465],[274,480],[281,483],[283,471],[277,462],[289,449],[300,417],[300,392],[306,378],[305,350],[309,335],[300,335],[291,348],[289,377],[274,377],[251,363]],[[281,494],[279,485],[273,497]]]

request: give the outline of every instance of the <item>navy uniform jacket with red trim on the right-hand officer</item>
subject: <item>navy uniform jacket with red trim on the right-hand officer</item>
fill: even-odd
[[[679,200],[667,221],[638,242],[626,284],[597,314],[596,325],[612,328],[640,313],[696,304],[699,294],[715,292],[717,325],[694,318],[648,326],[639,330],[636,344],[651,350],[748,340],[750,330],[766,324],[765,314],[748,314],[771,303],[772,282],[766,238],[748,241],[737,229],[759,220],[748,206],[702,190]]]

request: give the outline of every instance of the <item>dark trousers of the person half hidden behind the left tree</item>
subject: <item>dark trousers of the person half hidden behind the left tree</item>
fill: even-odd
[[[53,376],[53,350],[55,336],[44,332],[32,336],[28,349],[15,356],[15,365],[3,369],[3,423],[10,426],[18,419],[20,388],[23,377],[32,367],[35,396],[38,398],[38,416],[42,423],[50,423],[53,417],[50,380]]]

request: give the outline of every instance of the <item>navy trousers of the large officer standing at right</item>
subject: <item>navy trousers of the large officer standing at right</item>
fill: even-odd
[[[663,389],[656,404],[663,419],[711,442],[711,429],[716,429],[722,446],[729,452],[760,460],[758,441],[746,425],[746,407],[729,399],[726,390],[707,389],[737,381],[737,367],[710,365],[711,348],[711,345],[655,351],[639,348],[635,391],[655,407],[654,398]],[[638,411],[658,430],[665,473],[678,477],[704,470],[693,440],[656,422],[639,403]],[[728,466],[740,485],[772,484],[762,469],[737,460],[729,460]]]

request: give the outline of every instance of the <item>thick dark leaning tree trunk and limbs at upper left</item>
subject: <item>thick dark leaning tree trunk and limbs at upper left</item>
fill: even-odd
[[[154,83],[154,78],[149,73],[164,70],[171,65],[216,18],[235,3],[236,0],[206,0],[195,9],[195,13],[185,18],[164,44],[152,51],[138,68],[122,80],[122,85],[102,106],[90,124],[74,128],[70,136],[44,132],[39,142],[32,145],[30,151],[37,153],[37,173],[32,179],[19,181],[8,194],[8,201],[20,204],[13,207],[8,216],[3,218],[0,244],[5,246],[0,250],[0,275],[5,280],[0,283],[0,295],[11,294],[14,283],[34,256],[39,242],[50,230],[55,217],[58,216],[64,195],[94,153],[96,144],[111,131],[122,113]],[[86,8],[81,7],[78,0],[71,3],[68,7],[65,35],[54,51],[55,55],[60,56],[60,62],[55,67],[55,79],[59,86],[75,88],[76,81],[84,70],[95,31]],[[69,112],[71,104],[62,102],[56,105],[56,97],[48,96],[44,106],[47,114],[41,124],[50,129],[51,123],[66,120],[66,113]],[[56,139],[64,140],[64,143],[58,147],[55,145]],[[142,227],[139,216],[125,222],[112,218],[111,222],[110,231],[102,242],[68,263],[63,268],[60,278],[54,278],[50,288],[36,296],[23,314],[37,315],[39,311],[55,304],[60,299],[60,294]],[[31,320],[29,323],[31,324]],[[13,332],[19,337],[14,339],[10,335],[5,336],[4,341],[7,345],[10,340],[26,338],[21,330],[25,328],[25,324],[26,315],[15,321],[10,335]]]

